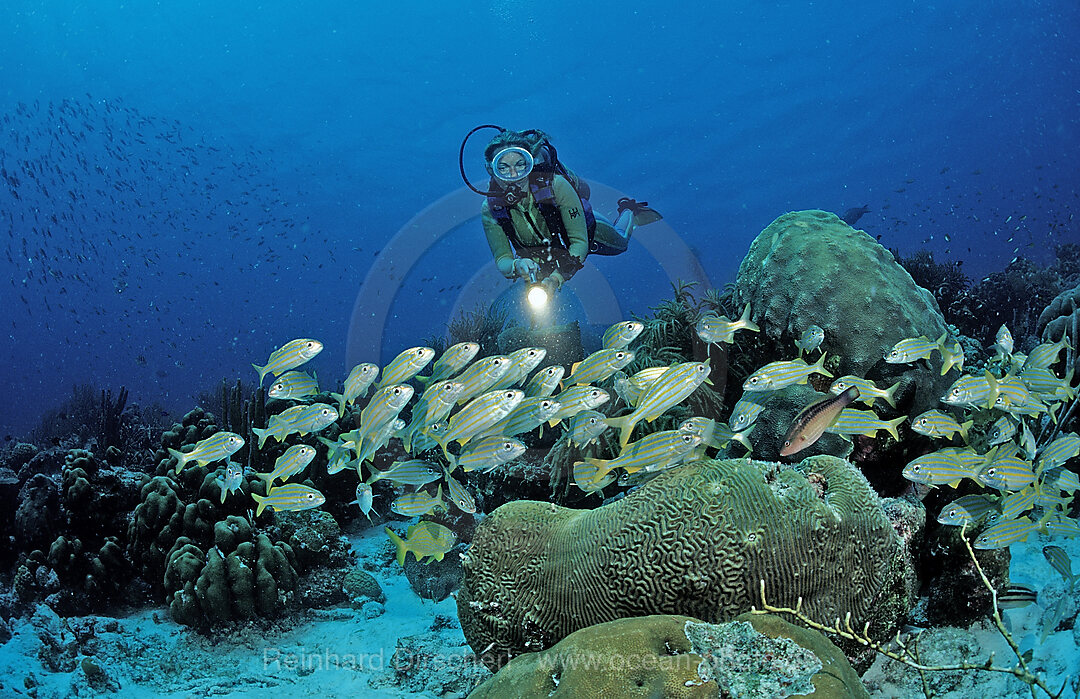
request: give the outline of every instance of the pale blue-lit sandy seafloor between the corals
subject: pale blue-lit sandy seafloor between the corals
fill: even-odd
[[[36,696],[41,699],[113,693],[135,699],[464,696],[488,673],[465,660],[469,647],[457,623],[454,600],[432,603],[418,597],[402,568],[390,560],[391,548],[381,527],[349,538],[357,554],[357,565],[372,572],[382,586],[383,614],[378,614],[380,607],[376,603],[368,603],[360,609],[311,611],[282,630],[247,628],[208,637],[173,622],[164,608],[140,610],[117,619],[114,631],[96,633],[95,656],[116,683],[108,689],[91,686],[79,662],[75,663],[73,672],[54,672],[43,664],[39,654],[50,650],[41,637],[64,638],[65,634],[70,637],[71,631],[65,630],[67,624],[40,606],[32,618],[14,622],[12,638],[0,646],[0,696],[31,696],[26,689],[27,677],[32,677]],[[1048,684],[1056,690],[1069,677],[1063,696],[1075,697],[1080,675],[1080,629],[1051,631],[1040,642],[1043,621],[1062,597],[1067,597],[1063,615],[1066,619],[1076,617],[1080,599],[1080,584],[1067,594],[1062,576],[1043,557],[1042,547],[1050,542],[1065,548],[1077,562],[1074,569],[1080,570],[1080,539],[1050,541],[1034,536],[1029,541],[1013,545],[1012,582],[1039,590],[1039,604],[1007,610],[1005,623],[1022,650],[1035,649],[1032,668],[1045,674]],[[94,619],[100,630],[111,618]],[[399,673],[391,667],[391,659],[399,640],[408,636],[422,636],[423,647],[434,655],[424,667]],[[969,629],[927,630],[919,649],[928,663],[961,659],[982,663],[991,651],[997,664],[1015,663],[1015,657],[991,622]],[[1027,685],[999,673],[937,672],[928,673],[927,678],[935,697],[1031,696]],[[880,657],[863,681],[874,697],[923,696],[917,672]]]

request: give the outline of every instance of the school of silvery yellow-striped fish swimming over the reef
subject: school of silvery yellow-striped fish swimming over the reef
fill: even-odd
[[[731,344],[737,331],[758,330],[750,318],[747,306],[738,321],[705,317],[696,330],[705,344]],[[781,457],[796,455],[825,433],[849,440],[887,433],[900,441],[899,427],[909,420],[912,431],[947,445],[907,463],[903,469],[906,479],[922,487],[957,487],[967,479],[985,489],[985,494],[957,498],[939,517],[943,524],[981,527],[977,548],[1005,547],[1034,530],[1080,535],[1077,520],[1066,512],[1068,501],[1080,490],[1080,479],[1065,468],[1066,461],[1080,455],[1080,436],[1057,434],[1056,429],[1062,405],[1077,396],[1072,372],[1062,377],[1055,369],[1062,351],[1069,348],[1064,336],[1024,357],[1013,353],[1012,335],[1002,326],[991,348],[997,371],[970,374],[962,373],[964,357],[959,342],[947,334],[936,340],[924,336],[901,340],[883,355],[887,363],[930,362],[937,353],[943,376],[950,371],[960,373],[941,396],[941,409],[908,418],[895,416],[899,382],[882,388],[859,376],[836,378],[825,367],[824,331],[809,325],[795,342],[795,359],[770,362],[746,378],[743,395],[726,424],[691,417],[676,429],[645,430],[632,441],[638,425],[653,422],[686,401],[707,381],[711,372],[706,361],[625,374],[622,369],[635,359],[631,346],[642,331],[637,321],[612,325],[604,334],[602,348],[570,367],[543,366],[546,351],[538,347],[483,358],[477,358],[476,342],[454,345],[437,358],[431,348],[413,347],[381,369],[366,362],[352,367],[342,392],[329,393],[333,405],[305,402],[320,389],[313,375],[298,369],[323,346],[310,338],[295,339],[274,350],[264,365],[253,366],[260,384],[272,376],[270,398],[296,404],[271,416],[267,428],[253,432],[259,449],[292,434],[314,433],[327,447],[328,473],[355,469],[360,485],[351,505],[368,519],[376,508],[372,485],[380,481],[397,489],[387,507],[391,512],[418,517],[454,507],[472,513],[476,502],[468,489],[468,473],[499,469],[519,458],[526,451],[519,438],[535,430],[542,433],[545,427],[563,426],[582,455],[573,466],[573,482],[594,493],[617,481],[626,483],[627,476],[636,482],[642,475],[704,458],[707,448],[727,449],[739,443],[753,453],[750,435],[769,393],[806,385],[811,376],[820,375],[832,381],[828,392],[810,402],[792,421]],[[815,361],[804,359],[816,352]],[[429,366],[430,373],[422,375]],[[367,399],[369,391],[374,392]],[[608,417],[599,412],[602,407],[619,416]],[[891,411],[892,416],[882,417],[878,409]],[[318,434],[350,411],[354,418],[359,412],[355,429],[342,432],[337,440]],[[403,412],[407,420],[400,417]],[[975,417],[984,412],[996,415],[996,420],[988,433],[972,439]],[[977,416],[980,424],[987,422],[982,419],[985,416]],[[609,459],[596,458],[593,449],[608,430],[618,435],[619,453]],[[392,440],[399,440],[413,458],[376,468],[376,454]],[[218,432],[186,454],[175,452],[176,470],[189,462],[205,466],[228,460],[243,445],[240,435]],[[322,505],[325,498],[321,493],[289,482],[311,466],[315,455],[313,446],[296,444],[269,472],[256,474],[265,483],[265,494],[252,495],[258,512]],[[238,469],[230,461],[227,476],[218,481],[222,501],[241,490],[242,470]],[[401,490],[406,487],[411,490]],[[418,557],[441,560],[454,545],[453,536],[427,524],[410,529],[414,534],[407,540],[392,535],[400,559],[405,550],[414,550]]]

